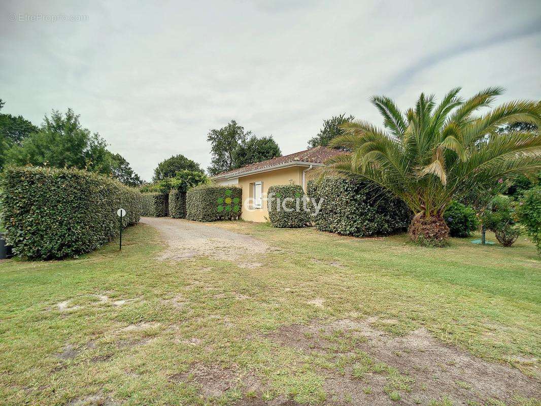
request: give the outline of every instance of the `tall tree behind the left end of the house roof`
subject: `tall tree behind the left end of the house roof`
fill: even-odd
[[[210,142],[212,160],[207,168],[208,173],[212,176],[237,168],[236,150],[250,135],[252,132],[245,133],[244,127],[239,126],[235,120],[223,128],[210,130],[207,140]]]

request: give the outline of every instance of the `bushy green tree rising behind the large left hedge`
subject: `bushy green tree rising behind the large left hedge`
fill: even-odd
[[[21,145],[8,150],[6,163],[79,168],[110,174],[107,143],[99,134],[91,134],[83,128],[79,117],[71,109],[65,114],[52,110],[51,117],[45,116],[37,133],[30,134]]]

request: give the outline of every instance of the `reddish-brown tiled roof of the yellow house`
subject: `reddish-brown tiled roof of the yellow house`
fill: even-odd
[[[233,169],[232,171],[222,172],[212,176],[213,178],[223,178],[224,176],[240,176],[243,173],[259,171],[261,169],[272,168],[274,166],[283,165],[285,163],[294,162],[309,162],[309,163],[324,163],[331,156],[342,154],[343,152],[336,149],[326,147],[315,147],[306,149],[301,152],[280,156],[279,158],[269,159],[268,161],[252,163],[251,165],[243,166],[242,168]]]

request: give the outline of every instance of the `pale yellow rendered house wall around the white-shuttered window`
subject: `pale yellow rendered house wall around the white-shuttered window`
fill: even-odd
[[[267,192],[269,187],[274,185],[289,185],[291,182],[295,185],[302,184],[302,171],[306,167],[293,166],[284,169],[275,169],[274,171],[262,172],[254,175],[243,176],[239,178],[239,185],[242,187],[242,213],[241,218],[247,221],[263,222],[268,221]],[[263,207],[248,209],[246,200],[250,197],[250,184],[254,182],[263,182]]]

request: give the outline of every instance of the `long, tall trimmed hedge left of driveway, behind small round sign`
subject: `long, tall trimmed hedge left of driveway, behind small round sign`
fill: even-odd
[[[136,224],[141,193],[86,171],[36,167],[7,168],[2,179],[2,223],[19,257],[50,259],[90,252]]]

